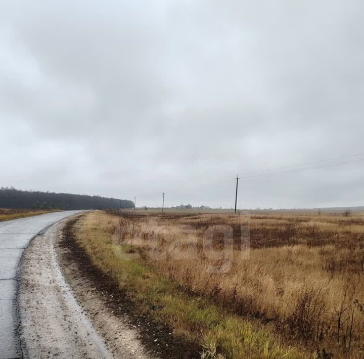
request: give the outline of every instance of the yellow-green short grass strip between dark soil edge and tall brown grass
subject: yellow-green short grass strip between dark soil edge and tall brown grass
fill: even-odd
[[[299,349],[282,344],[269,326],[232,315],[207,298],[188,294],[176,282],[158,274],[142,259],[142,250],[115,243],[115,228],[108,214],[87,213],[75,229],[78,244],[94,265],[117,281],[135,311],[166,323],[174,337],[196,343],[200,348],[196,357],[308,356]]]

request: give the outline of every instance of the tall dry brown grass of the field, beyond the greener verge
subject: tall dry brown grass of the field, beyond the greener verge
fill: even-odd
[[[238,315],[274,322],[290,342],[319,348],[321,357],[363,357],[362,215],[123,212],[110,218],[115,243],[142,248],[144,260],[181,288]],[[244,255],[242,225],[250,231]],[[221,226],[230,226],[228,245]],[[211,246],[204,244],[206,233]]]

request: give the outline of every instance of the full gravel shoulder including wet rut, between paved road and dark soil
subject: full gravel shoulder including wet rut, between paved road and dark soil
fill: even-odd
[[[104,293],[66,263],[64,225],[35,237],[22,258],[18,307],[24,356],[152,358],[138,331],[128,325],[128,316],[115,316]]]

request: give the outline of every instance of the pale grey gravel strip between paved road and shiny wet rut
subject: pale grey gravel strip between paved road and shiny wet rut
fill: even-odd
[[[112,358],[57,264],[54,243],[61,226],[35,237],[23,254],[18,308],[24,357]]]

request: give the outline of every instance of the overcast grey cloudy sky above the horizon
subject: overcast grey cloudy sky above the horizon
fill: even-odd
[[[0,2],[0,187],[364,205],[362,0]]]

